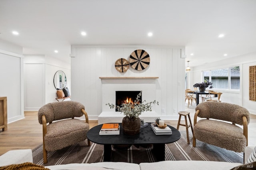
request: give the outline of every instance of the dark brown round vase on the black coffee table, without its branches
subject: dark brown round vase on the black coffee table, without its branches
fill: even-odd
[[[122,120],[124,134],[136,135],[140,133],[140,118],[124,117]]]

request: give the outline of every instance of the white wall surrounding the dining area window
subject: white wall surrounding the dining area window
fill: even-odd
[[[221,99],[223,102],[241,105],[248,109],[250,113],[256,114],[256,102],[249,100],[249,66],[256,65],[256,53],[250,53],[214,63],[207,63],[198,67],[192,67],[192,71],[190,72],[192,79],[190,79],[189,87],[193,89],[194,83],[202,81],[202,70],[212,70],[237,65],[240,66],[240,91],[220,90],[223,92]]]

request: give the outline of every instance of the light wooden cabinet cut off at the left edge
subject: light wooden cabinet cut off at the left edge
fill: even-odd
[[[7,97],[0,97],[0,128],[7,130]]]

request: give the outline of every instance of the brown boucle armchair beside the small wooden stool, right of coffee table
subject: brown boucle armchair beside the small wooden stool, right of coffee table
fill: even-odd
[[[197,117],[206,119],[197,122]],[[202,102],[196,106],[194,115],[193,146],[196,147],[198,139],[234,152],[244,152],[248,146],[249,122],[250,113],[244,107],[231,103]]]

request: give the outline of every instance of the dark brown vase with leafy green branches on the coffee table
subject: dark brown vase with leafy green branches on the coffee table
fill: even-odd
[[[121,113],[124,113],[125,117],[122,119],[122,127],[125,134],[138,134],[140,132],[139,116],[141,115],[141,113],[144,111],[152,111],[151,104],[156,103],[158,105],[158,101],[156,100],[149,103],[146,103],[145,100],[143,102],[140,102],[139,98],[141,96],[141,93],[142,92],[137,95],[136,100],[129,103],[123,102],[121,107],[110,103],[106,104],[110,107],[110,109],[117,109],[118,111],[121,111]]]

